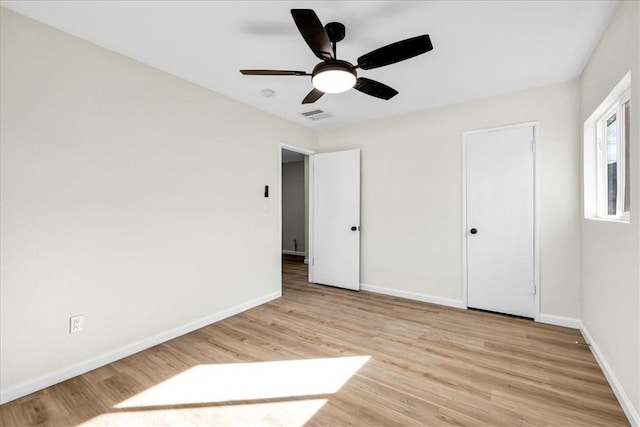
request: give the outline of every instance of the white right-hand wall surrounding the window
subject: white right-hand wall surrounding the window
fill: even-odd
[[[582,321],[640,423],[640,3],[623,1],[580,80],[581,123],[631,70],[631,221],[582,220]],[[589,153],[585,153],[589,158]],[[592,158],[592,156],[591,156]],[[588,185],[588,183],[586,184]],[[627,408],[627,415],[629,410]]]

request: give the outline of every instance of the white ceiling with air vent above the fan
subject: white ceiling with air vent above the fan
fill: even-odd
[[[579,76],[618,0],[512,1],[0,1],[2,6],[185,80],[314,129],[470,101]],[[311,71],[319,60],[289,9],[342,22],[338,58],[429,34],[433,51],[358,70],[400,93],[358,91],[300,102],[310,77],[242,76],[241,68]],[[269,88],[275,96],[265,98]],[[311,121],[320,108],[332,118]]]

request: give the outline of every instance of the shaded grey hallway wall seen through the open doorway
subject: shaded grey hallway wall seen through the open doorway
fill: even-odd
[[[306,253],[304,161],[282,164],[282,249]]]

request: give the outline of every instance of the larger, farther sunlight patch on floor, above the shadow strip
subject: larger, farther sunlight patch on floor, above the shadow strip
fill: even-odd
[[[115,408],[193,405],[337,392],[370,356],[198,365]]]

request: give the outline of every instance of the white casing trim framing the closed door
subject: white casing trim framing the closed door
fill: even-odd
[[[540,144],[539,141],[539,122],[525,122],[517,123],[506,126],[499,126],[493,128],[479,129],[474,131],[467,131],[462,133],[462,293],[464,306],[468,307],[468,269],[467,269],[467,230],[469,225],[467,224],[467,137],[469,135],[494,132],[506,129],[515,129],[523,127],[533,127],[533,277],[536,287],[536,293],[534,295],[534,320],[538,321],[540,317],[540,204],[539,204],[539,173],[538,164],[540,159]]]

